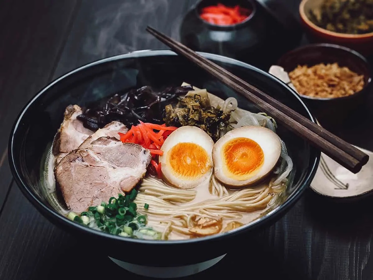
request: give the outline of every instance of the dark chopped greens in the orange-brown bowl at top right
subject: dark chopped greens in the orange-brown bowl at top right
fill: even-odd
[[[373,32],[373,0],[324,0],[310,10],[310,20],[329,31],[345,34]]]

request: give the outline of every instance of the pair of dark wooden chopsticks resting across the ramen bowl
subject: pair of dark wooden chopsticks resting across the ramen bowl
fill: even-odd
[[[146,30],[162,43],[169,46],[174,52],[191,60],[195,65],[206,70],[222,81],[222,83],[245,96],[251,102],[255,103],[260,110],[284,124],[293,133],[308,140],[327,156],[351,172],[359,172],[361,167],[368,162],[369,156],[366,153],[295,112],[253,85],[238,78],[211,60],[198,55],[193,50],[154,28],[147,27]]]

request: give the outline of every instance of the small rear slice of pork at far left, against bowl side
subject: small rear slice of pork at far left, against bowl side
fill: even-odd
[[[93,131],[85,128],[76,118],[82,113],[82,108],[78,105],[67,106],[63,122],[53,140],[52,153],[56,157],[56,163],[93,134]]]

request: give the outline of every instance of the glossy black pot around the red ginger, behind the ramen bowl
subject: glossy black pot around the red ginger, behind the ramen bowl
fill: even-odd
[[[227,26],[210,24],[200,17],[204,7],[218,3],[252,12],[245,21]],[[301,32],[289,32],[254,0],[200,0],[183,19],[180,36],[181,42],[195,51],[232,57],[264,70],[301,40]]]

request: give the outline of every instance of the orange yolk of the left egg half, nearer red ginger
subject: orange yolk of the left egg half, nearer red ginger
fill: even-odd
[[[209,169],[209,156],[195,143],[178,143],[167,153],[173,172],[185,179],[198,179]]]

